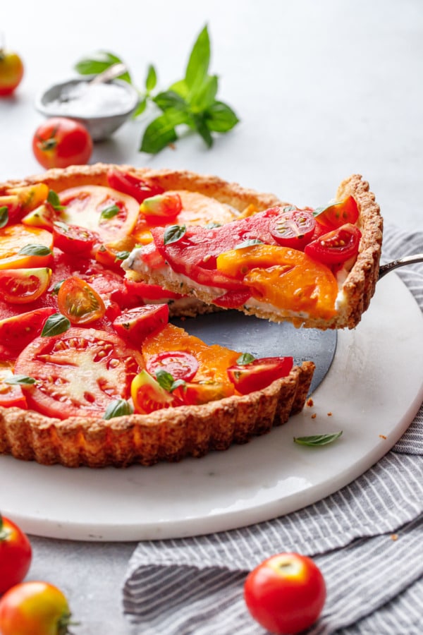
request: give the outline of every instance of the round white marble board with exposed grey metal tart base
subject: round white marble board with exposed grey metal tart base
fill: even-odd
[[[337,342],[333,332],[253,325],[232,313],[183,326],[209,343],[259,356],[314,356],[313,405],[269,435],[178,464],[70,469],[0,456],[5,516],[27,533],[73,540],[178,538],[269,520],[360,476],[422,403],[423,316],[396,274],[378,282],[360,325],[339,332]],[[343,435],[324,447],[293,442],[338,430]]]

